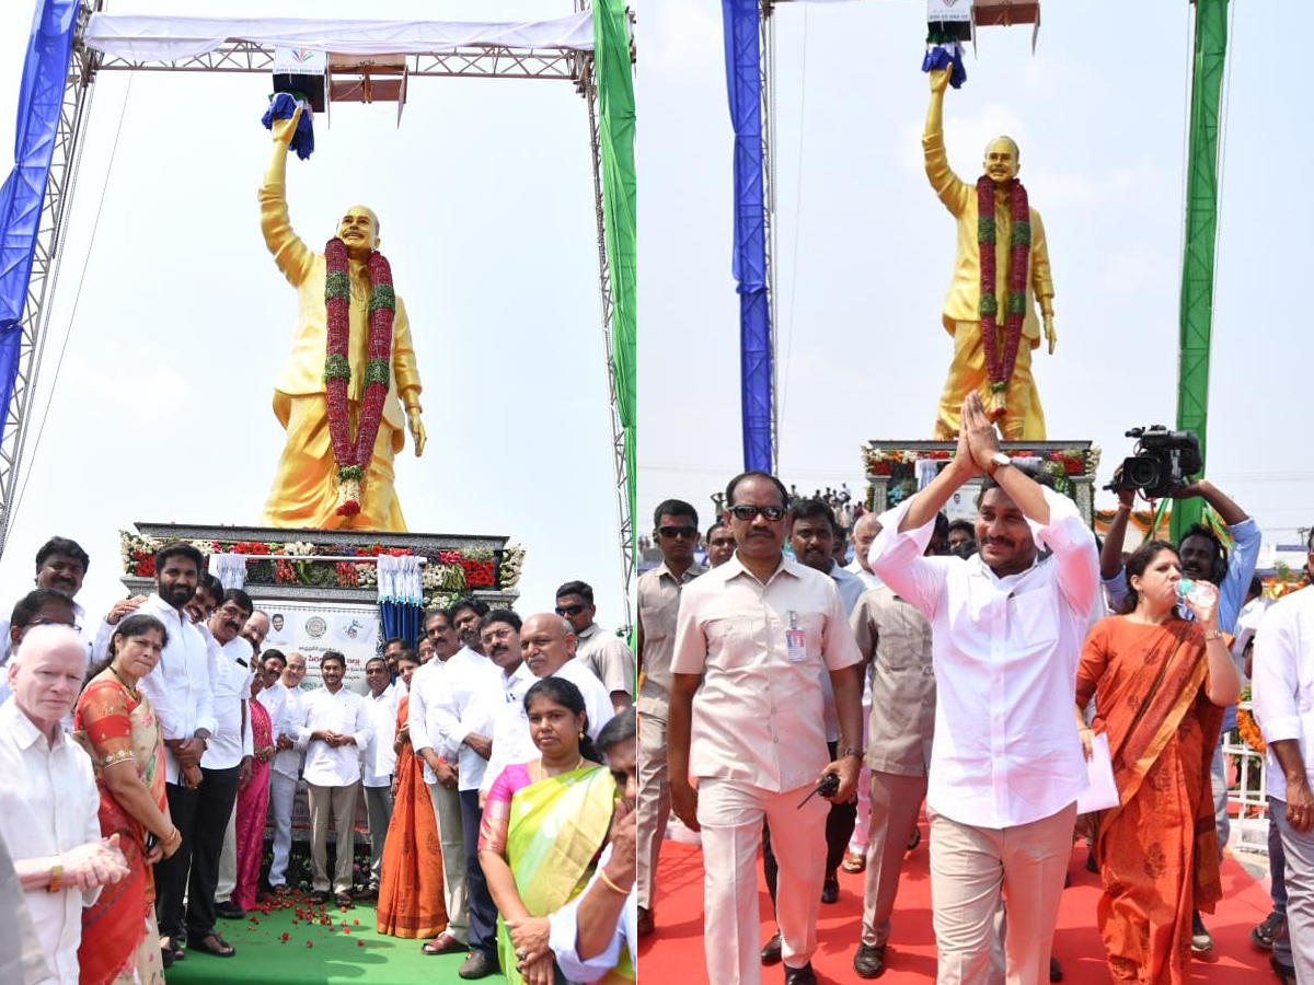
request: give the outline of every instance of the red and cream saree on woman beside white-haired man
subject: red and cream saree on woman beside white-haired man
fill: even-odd
[[[78,948],[81,985],[133,981],[163,982],[159,932],[155,930],[155,879],[146,864],[146,829],[105,785],[106,767],[131,760],[138,777],[160,810],[164,797],[164,743],[159,720],[145,695],[133,697],[112,671],[97,675],[78,699],[74,738],[91,755],[100,791],[100,830],[118,835],[127,876],[105,885],[92,906],[83,910]]]

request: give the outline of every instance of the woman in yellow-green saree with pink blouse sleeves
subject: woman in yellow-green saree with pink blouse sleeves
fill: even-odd
[[[509,766],[493,781],[480,825],[480,863],[498,908],[509,985],[555,985],[565,977],[552,953],[523,961],[506,922],[541,934],[547,943],[548,914],[573,900],[593,875],[611,825],[616,784],[597,762],[579,688],[544,678],[526,693],[524,709],[541,755]]]

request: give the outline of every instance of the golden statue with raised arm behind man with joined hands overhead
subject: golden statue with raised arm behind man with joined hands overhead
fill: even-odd
[[[986,148],[984,177],[993,185],[995,201],[995,293],[987,305],[982,302],[982,252],[983,235],[982,208],[978,185],[962,181],[949,167],[945,155],[945,89],[949,88],[949,72],[930,72],[930,109],[926,112],[926,131],[921,146],[926,162],[926,177],[936,189],[940,201],[958,221],[958,251],[954,256],[954,277],[945,296],[945,331],[954,338],[954,361],[949,366],[945,390],[940,397],[936,412],[936,437],[949,440],[958,435],[959,411],[963,399],[978,390],[982,402],[989,408],[991,418],[999,422],[1005,439],[1012,441],[1043,441],[1045,411],[1035,391],[1031,376],[1031,349],[1041,344],[1041,323],[1035,318],[1035,302],[1039,301],[1041,315],[1045,319],[1045,339],[1050,355],[1054,353],[1056,336],[1054,334],[1054,281],[1050,278],[1050,256],[1045,247],[1045,226],[1041,214],[1028,206],[1030,236],[1030,269],[1026,272],[1025,302],[1021,293],[1016,297],[1014,311],[1021,315],[1021,338],[1014,339],[1016,361],[1012,374],[1001,372],[1005,353],[1009,351],[1007,315],[1009,296],[1010,264],[1017,253],[1014,244],[1014,222],[1012,206],[1014,196],[1021,192],[1017,172],[1021,165],[1017,144],[1008,137],[1000,137]],[[986,188],[986,185],[982,185]],[[1022,192],[1025,201],[1025,192]],[[988,217],[987,217],[988,218]],[[1017,223],[1021,225],[1021,223]],[[1026,230],[1020,229],[1025,246]],[[1025,256],[1025,250],[1022,251]],[[988,276],[988,272],[987,272]],[[983,310],[988,309],[988,310]],[[997,314],[995,345],[983,344],[983,317]],[[997,359],[996,372],[991,372],[989,355],[992,349]],[[992,378],[995,377],[995,378]]]

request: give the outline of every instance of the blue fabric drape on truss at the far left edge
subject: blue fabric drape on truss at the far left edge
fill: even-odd
[[[22,63],[13,171],[0,186],[0,436],[18,374],[22,313],[76,18],[78,0],[37,0]]]

